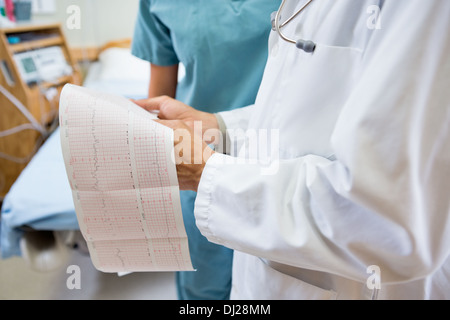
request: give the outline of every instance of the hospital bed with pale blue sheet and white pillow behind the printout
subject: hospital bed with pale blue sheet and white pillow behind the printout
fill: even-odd
[[[106,46],[91,63],[83,86],[127,98],[144,98],[150,67],[129,48]],[[68,248],[83,247],[61,152],[54,131],[6,195],[0,220],[2,259],[22,256],[33,269],[58,266]]]

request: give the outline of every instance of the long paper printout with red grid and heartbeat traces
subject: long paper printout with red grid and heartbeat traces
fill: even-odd
[[[173,131],[128,99],[66,85],[61,144],[81,232],[103,272],[193,270]]]

